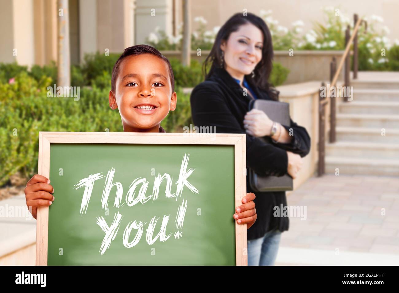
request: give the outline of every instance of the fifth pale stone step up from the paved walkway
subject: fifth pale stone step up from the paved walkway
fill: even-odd
[[[338,113],[344,114],[399,114],[399,102],[348,101],[338,104]]]

